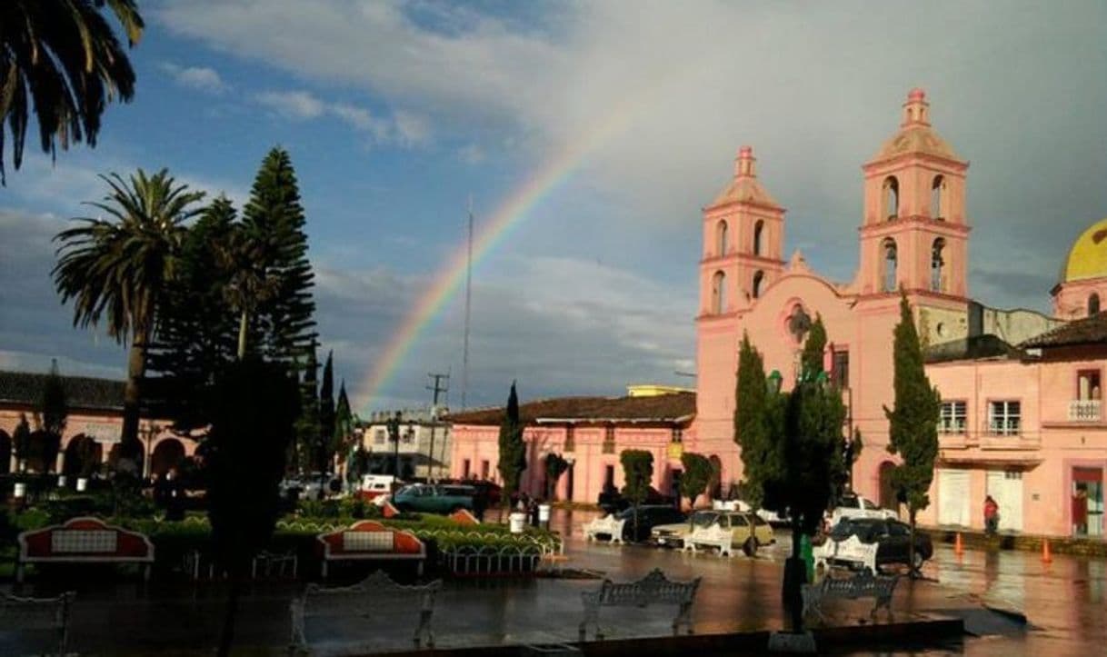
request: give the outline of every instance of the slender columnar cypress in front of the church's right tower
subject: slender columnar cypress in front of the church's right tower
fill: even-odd
[[[900,293],[900,322],[896,325],[893,345],[896,406],[889,410],[888,451],[899,455],[901,463],[891,472],[891,484],[900,502],[907,504],[911,524],[909,561],[912,576],[918,575],[914,564],[914,521],[922,509],[930,505],[927,491],[934,478],[934,459],[938,457],[938,415],[941,396],[930,385],[923,369],[922,346],[911,315],[907,294]]]

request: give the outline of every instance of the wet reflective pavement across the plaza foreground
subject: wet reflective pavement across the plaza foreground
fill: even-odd
[[[670,578],[702,576],[693,612],[696,634],[779,629],[785,625],[779,604],[783,561],[788,541],[763,549],[756,559],[714,554],[691,555],[640,545],[586,543],[580,525],[589,512],[555,513],[552,529],[568,534],[567,569],[602,573],[630,581],[660,567]],[[1107,654],[1107,561],[1055,556],[1043,564],[1024,552],[966,552],[954,555],[939,545],[928,563],[925,581],[902,581],[893,608],[896,620],[937,614],[965,620],[983,635],[935,648],[883,646],[851,655],[1100,655]],[[594,590],[596,580],[472,578],[444,584],[433,627],[439,648],[498,644],[551,644],[577,640],[582,617],[580,592]],[[39,585],[40,588],[42,585]],[[24,593],[44,594],[48,591]],[[242,601],[236,632],[238,654],[283,654],[289,636],[288,605],[302,584],[267,583]],[[155,585],[85,583],[73,609],[72,646],[81,654],[196,655],[210,654],[223,620],[225,585],[220,583]],[[828,605],[832,625],[868,623],[865,602]],[[994,613],[997,607],[1025,613]],[[414,612],[386,608],[364,620],[313,620],[309,640],[319,654],[366,654],[412,647]],[[604,609],[608,637],[668,636],[673,609]],[[613,623],[611,623],[613,622]],[[4,644],[0,654],[18,654],[24,643]]]

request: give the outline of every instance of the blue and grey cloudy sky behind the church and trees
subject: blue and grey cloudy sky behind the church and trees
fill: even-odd
[[[914,86],[971,163],[973,298],[1047,311],[1073,240],[1107,216],[1095,0],[139,8],[133,102],[95,148],[51,161],[29,139],[0,188],[0,368],[123,376],[124,347],[73,328],[50,280],[51,238],[104,196],[99,175],[167,167],[240,206],[278,145],[321,346],[362,413],[428,405],[428,373],[461,405],[464,284],[405,327],[464,249],[470,198],[478,236],[511,227],[474,262],[470,407],[514,379],[525,399],[694,385],[677,373],[695,371],[701,208],[741,145],[788,210],[785,258],[851,280],[860,166]]]

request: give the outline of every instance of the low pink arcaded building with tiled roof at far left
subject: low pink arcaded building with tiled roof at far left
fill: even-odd
[[[38,429],[35,405],[45,383],[44,374],[0,371],[0,473],[17,469],[11,438],[20,417],[27,416],[31,431]],[[61,450],[52,463],[31,459],[29,470],[76,474],[92,456],[97,465],[113,460],[123,429],[123,382],[81,376],[62,377],[69,417]],[[193,456],[196,442],[169,431],[168,420],[143,418],[138,437],[143,446],[143,472],[164,474],[182,459]],[[85,444],[90,449],[83,449]]]

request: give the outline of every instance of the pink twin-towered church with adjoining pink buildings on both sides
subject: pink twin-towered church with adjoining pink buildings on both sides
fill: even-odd
[[[865,444],[853,486],[893,508],[883,406],[892,404],[892,331],[902,289],[928,347],[928,374],[943,397],[941,453],[922,521],[983,526],[984,496],[992,494],[1002,530],[1103,535],[1107,315],[1097,313],[1107,293],[1107,220],[1073,247],[1052,291],[1054,317],[996,310],[969,296],[969,163],[931,126],[922,90],[910,92],[899,129],[861,170],[859,264],[852,281],[834,282],[810,271],[798,251],[785,259],[785,210],[757,179],[753,149],[739,149],[732,180],[703,209],[694,418],[609,421],[617,444],[609,453],[617,460],[627,447],[656,450],[654,484],[662,491],[679,477],[683,449],[717,458],[724,484],[741,481],[733,425],[738,342],[748,333],[787,387],[810,322],[820,315],[826,366],[849,409],[845,430],[859,430]],[[487,439],[475,439],[482,426],[475,420],[454,417],[455,474],[477,451],[495,468],[495,428],[483,425],[493,429],[489,450]],[[638,428],[664,421],[671,423],[670,446],[661,434]],[[527,436],[537,439],[530,428]],[[582,459],[566,442],[536,447],[534,471],[541,470],[544,450],[575,456],[575,486],[566,491],[562,482],[561,492],[594,502],[598,486],[612,479],[612,459]],[[590,486],[580,487],[581,479]]]

